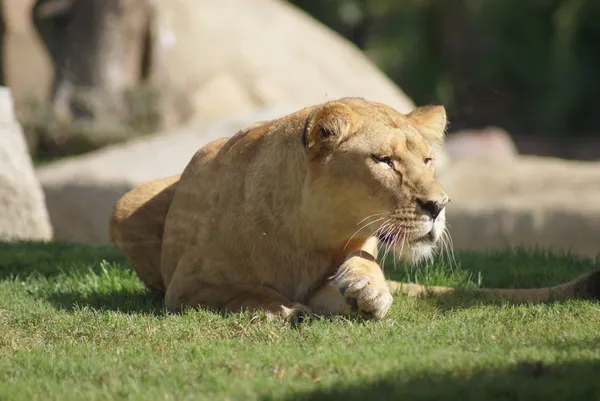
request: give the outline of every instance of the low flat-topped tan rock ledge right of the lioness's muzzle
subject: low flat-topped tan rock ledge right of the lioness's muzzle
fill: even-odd
[[[521,156],[456,160],[441,176],[452,197],[454,248],[555,247],[600,253],[600,163]]]

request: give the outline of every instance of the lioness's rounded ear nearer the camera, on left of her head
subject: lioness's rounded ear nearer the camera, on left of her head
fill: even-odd
[[[348,135],[356,120],[356,113],[345,104],[327,103],[309,115],[302,142],[313,155],[332,150]]]

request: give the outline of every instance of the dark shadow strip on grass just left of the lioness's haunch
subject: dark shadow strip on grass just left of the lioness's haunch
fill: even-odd
[[[146,291],[94,292],[86,296],[79,293],[59,293],[49,294],[46,299],[55,308],[68,311],[89,307],[128,314],[144,313],[162,316],[167,313],[163,307],[163,295]]]

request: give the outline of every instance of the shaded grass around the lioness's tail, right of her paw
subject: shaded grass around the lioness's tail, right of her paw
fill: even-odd
[[[386,271],[386,275],[400,282],[418,282],[424,285],[440,285],[436,280],[449,280],[455,291],[445,294],[423,296],[435,307],[467,309],[478,305],[522,305],[528,301],[507,300],[492,293],[476,293],[470,288],[546,288],[570,282],[584,273],[600,272],[600,259],[591,259],[560,249],[510,248],[489,252],[460,252],[458,266],[453,270],[443,265],[408,268],[403,266]],[[437,262],[439,263],[439,262]],[[389,266],[389,264],[388,264]],[[453,276],[452,276],[453,275]],[[450,277],[452,276],[452,277]],[[458,280],[456,280],[458,278]],[[481,282],[477,282],[481,278]],[[448,285],[443,283],[442,285]],[[581,281],[577,291],[582,298],[600,299],[600,273]],[[400,295],[401,296],[401,295]],[[545,303],[560,302],[559,299]]]

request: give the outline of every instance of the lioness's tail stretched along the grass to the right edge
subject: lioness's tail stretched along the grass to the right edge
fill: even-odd
[[[454,292],[454,288],[440,286],[424,286],[420,284],[406,284],[388,280],[392,291],[399,291],[409,296],[426,294],[446,294]],[[489,293],[504,299],[517,302],[546,302],[555,299],[596,299],[600,300],[600,270],[586,273],[574,280],[554,287],[545,288],[475,288],[465,290],[476,293]]]

